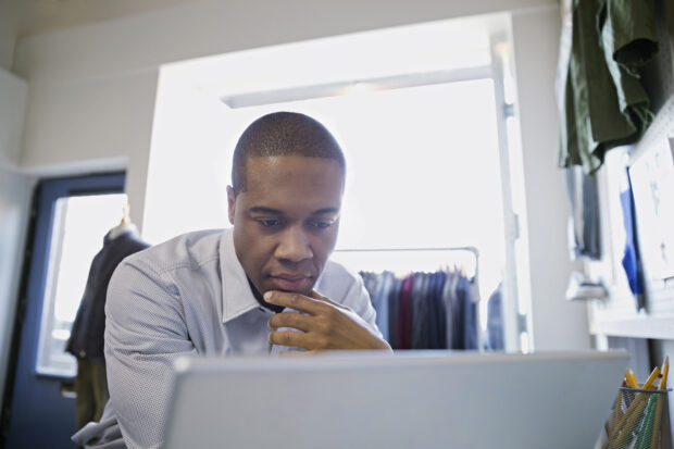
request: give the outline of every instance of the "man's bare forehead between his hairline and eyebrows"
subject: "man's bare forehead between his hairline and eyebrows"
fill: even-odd
[[[342,188],[342,167],[335,160],[302,155],[253,157],[246,163],[246,190],[240,195],[247,202],[255,202],[251,207],[338,209]]]

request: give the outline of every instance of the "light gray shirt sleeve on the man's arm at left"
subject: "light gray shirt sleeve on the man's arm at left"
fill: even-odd
[[[126,260],[111,278],[105,316],[108,387],[124,440],[161,447],[173,362],[196,353],[177,289],[167,275]]]

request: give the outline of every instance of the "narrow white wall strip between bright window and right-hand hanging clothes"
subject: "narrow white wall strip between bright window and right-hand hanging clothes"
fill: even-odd
[[[587,349],[585,303],[567,302],[569,261],[563,172],[557,167],[559,126],[554,76],[559,49],[557,10],[515,13],[512,35],[527,208],[531,319],[534,349]]]

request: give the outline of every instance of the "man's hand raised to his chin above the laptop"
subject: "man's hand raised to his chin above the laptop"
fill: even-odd
[[[280,312],[270,319],[270,327],[297,330],[273,330],[274,345],[295,346],[310,351],[330,349],[387,349],[386,340],[376,336],[370,325],[351,309],[311,292],[310,297],[286,291],[267,291],[264,300],[299,312]],[[298,332],[299,330],[299,332]]]

